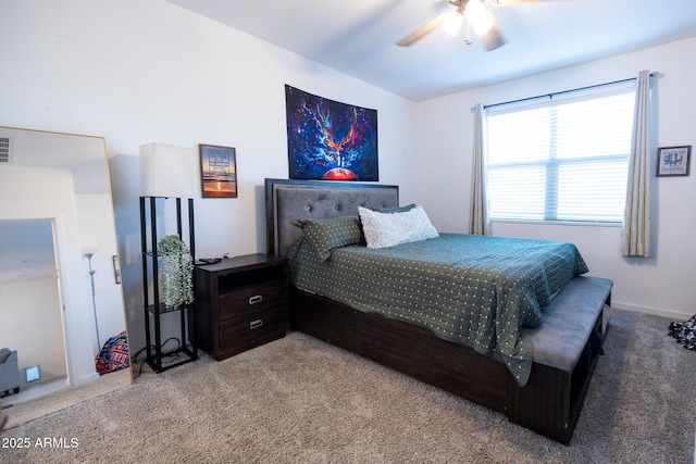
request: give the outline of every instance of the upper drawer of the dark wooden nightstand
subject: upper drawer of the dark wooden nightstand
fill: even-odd
[[[287,304],[288,286],[284,281],[247,287],[220,296],[220,321],[240,317]]]

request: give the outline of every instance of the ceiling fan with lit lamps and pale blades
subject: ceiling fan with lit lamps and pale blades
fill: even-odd
[[[403,37],[401,40],[396,42],[396,45],[400,47],[409,47],[413,42],[422,39],[433,30],[442,27],[446,32],[448,32],[451,36],[455,36],[459,30],[461,24],[465,21],[467,23],[467,37],[465,41],[468,45],[472,42],[470,38],[469,27],[471,26],[474,29],[476,36],[483,43],[483,46],[488,50],[495,50],[498,47],[502,47],[505,45],[505,40],[498,30],[498,26],[496,25],[495,17],[493,13],[488,11],[485,7],[486,0],[435,0],[435,1],[447,1],[451,3],[457,10],[455,11],[446,11],[442,13],[427,23],[423,24],[418,29],[413,30],[408,36]],[[496,7],[506,7],[518,3],[531,3],[531,2],[539,2],[545,0],[488,0],[492,4]],[[546,0],[548,1],[548,0]],[[552,1],[552,0],[551,0]]]

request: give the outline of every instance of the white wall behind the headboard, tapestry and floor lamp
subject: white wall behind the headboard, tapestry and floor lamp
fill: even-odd
[[[12,63],[0,124],[104,136],[110,156],[150,142],[237,149],[238,198],[196,201],[199,256],[265,251],[263,179],[288,175],[285,84],[376,109],[380,181],[417,200],[413,102],[164,0],[2,2],[0,54]],[[138,173],[119,167],[112,184],[129,189],[115,214],[133,217]],[[135,350],[141,297],[125,297]]]

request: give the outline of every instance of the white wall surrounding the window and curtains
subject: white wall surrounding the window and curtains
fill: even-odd
[[[695,54],[696,38],[419,103],[417,197],[440,230],[465,231],[473,143],[471,106],[635,77],[641,70],[660,73],[655,95],[655,147],[696,146],[696,62],[686,59]],[[655,160],[651,165],[656,165]],[[621,230],[617,227],[495,223],[493,234],[573,241],[586,258],[592,275],[614,280],[616,306],[688,318],[696,301],[696,243],[691,238],[696,226],[692,201],[696,178],[694,174],[654,176],[652,189],[655,252],[650,259],[622,258]]]

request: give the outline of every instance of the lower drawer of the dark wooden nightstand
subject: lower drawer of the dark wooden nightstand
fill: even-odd
[[[287,330],[285,306],[248,314],[220,324],[221,350],[229,355],[282,338]]]

